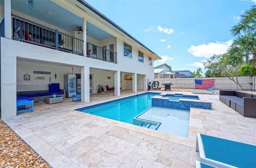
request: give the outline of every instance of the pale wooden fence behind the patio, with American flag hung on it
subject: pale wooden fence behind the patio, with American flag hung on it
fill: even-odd
[[[224,90],[241,90],[241,88],[230,80],[229,78],[161,78],[154,79],[154,81],[158,81],[160,83],[160,87],[164,82],[171,82],[172,88],[194,88],[195,79],[215,79],[216,89],[224,89]],[[256,76],[241,76],[238,77],[239,83],[245,90],[256,90]]]

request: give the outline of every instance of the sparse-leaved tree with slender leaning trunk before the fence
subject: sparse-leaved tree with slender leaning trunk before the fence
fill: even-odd
[[[229,51],[232,51],[232,48]],[[211,60],[208,60],[203,63],[205,68],[215,68],[215,70],[221,69],[220,74],[222,76],[228,77],[230,80],[238,84],[238,86],[240,86],[242,90],[244,90],[244,88],[238,81],[238,70],[244,63],[242,56],[238,57],[238,53],[233,53],[232,51],[231,53],[223,55],[214,55],[210,59]]]

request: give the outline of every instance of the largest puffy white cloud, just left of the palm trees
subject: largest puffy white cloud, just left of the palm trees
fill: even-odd
[[[210,58],[214,54],[224,54],[232,44],[232,40],[225,42],[216,41],[216,43],[207,43],[201,45],[191,45],[188,49],[188,53],[191,53],[195,57]]]

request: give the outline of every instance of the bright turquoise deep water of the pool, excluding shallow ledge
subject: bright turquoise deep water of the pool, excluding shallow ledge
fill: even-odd
[[[132,124],[134,117],[152,106],[152,96],[156,96],[156,94],[143,94],[118,102],[86,109],[82,112]]]

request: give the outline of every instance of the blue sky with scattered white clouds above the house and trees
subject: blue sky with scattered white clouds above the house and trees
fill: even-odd
[[[230,29],[256,0],[88,0],[173,70],[202,68],[223,54],[234,37]]]

